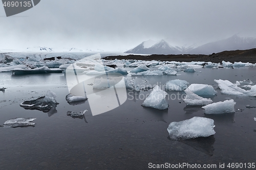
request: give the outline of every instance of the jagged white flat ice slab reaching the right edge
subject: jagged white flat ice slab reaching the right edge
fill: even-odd
[[[237,84],[233,84],[228,80],[214,80],[218,83],[219,88],[221,89],[221,93],[228,95],[256,95],[256,85],[251,86],[250,90],[245,90],[238,87]]]

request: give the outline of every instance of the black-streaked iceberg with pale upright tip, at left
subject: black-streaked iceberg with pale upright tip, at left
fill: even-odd
[[[55,98],[56,98],[56,94],[54,92],[48,90],[47,94],[45,96],[42,96],[35,100],[25,101],[23,103],[20,103],[19,106],[23,107],[24,109],[40,110],[43,112],[49,112],[49,111],[55,109],[56,106],[59,104],[59,103],[57,103]]]

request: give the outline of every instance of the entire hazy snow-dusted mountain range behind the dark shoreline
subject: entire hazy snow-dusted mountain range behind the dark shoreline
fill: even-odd
[[[191,46],[171,46],[166,41],[144,41],[135,48],[124,53],[131,54],[212,54],[223,51],[232,50],[248,50],[256,48],[256,38],[243,38],[238,35],[233,35],[230,38],[220,41],[206,43],[195,47]]]

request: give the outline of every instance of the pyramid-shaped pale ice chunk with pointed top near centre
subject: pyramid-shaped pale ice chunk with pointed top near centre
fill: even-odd
[[[165,100],[166,95],[167,93],[156,85],[151,91],[150,95],[148,95],[145,101],[142,103],[142,106],[153,107],[160,110],[167,109],[168,103]]]

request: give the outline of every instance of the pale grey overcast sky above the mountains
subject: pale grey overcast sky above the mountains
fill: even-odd
[[[41,0],[6,17],[0,49],[33,46],[128,50],[148,39],[197,45],[234,34],[256,37],[256,1]]]

